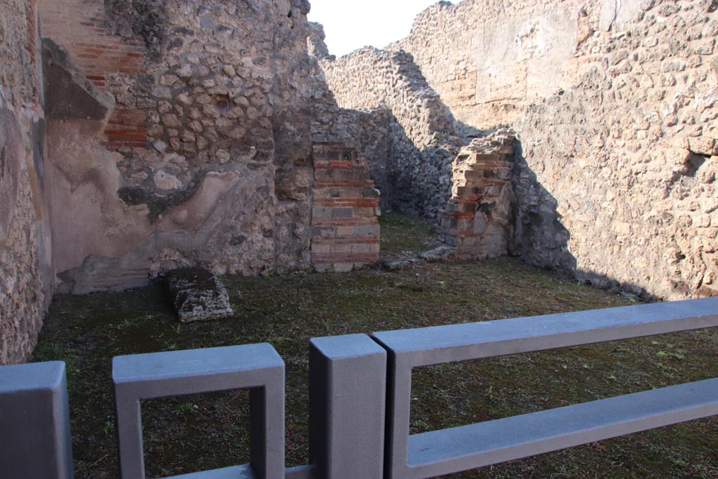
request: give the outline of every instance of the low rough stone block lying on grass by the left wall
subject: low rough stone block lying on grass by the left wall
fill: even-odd
[[[227,289],[217,276],[202,268],[167,273],[167,287],[181,322],[207,321],[233,314]]]

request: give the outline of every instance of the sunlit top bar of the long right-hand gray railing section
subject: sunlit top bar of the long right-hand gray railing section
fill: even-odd
[[[373,333],[412,367],[718,326],[718,297]]]

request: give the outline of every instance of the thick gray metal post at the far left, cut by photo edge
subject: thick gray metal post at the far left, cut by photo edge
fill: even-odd
[[[73,479],[65,363],[0,367],[0,476]]]

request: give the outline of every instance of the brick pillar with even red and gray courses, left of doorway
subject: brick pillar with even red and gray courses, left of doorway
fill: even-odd
[[[314,143],[312,266],[351,271],[379,259],[379,192],[356,149]]]

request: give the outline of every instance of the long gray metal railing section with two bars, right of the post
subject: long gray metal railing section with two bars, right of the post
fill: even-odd
[[[376,332],[388,351],[386,479],[433,478],[718,414],[718,380],[409,434],[411,370],[718,326],[718,297]]]

